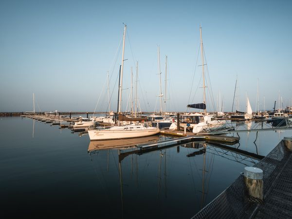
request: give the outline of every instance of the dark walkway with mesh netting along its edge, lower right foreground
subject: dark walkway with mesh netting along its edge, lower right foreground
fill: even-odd
[[[193,219],[292,218],[292,152],[281,141],[255,167],[263,170],[263,203],[249,201],[240,175]]]

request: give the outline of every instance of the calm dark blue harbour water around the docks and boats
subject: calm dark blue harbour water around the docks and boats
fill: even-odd
[[[239,136],[265,156],[292,131]],[[190,218],[258,162],[202,142],[88,152],[88,135],[21,117],[0,118],[0,139],[0,218]]]

